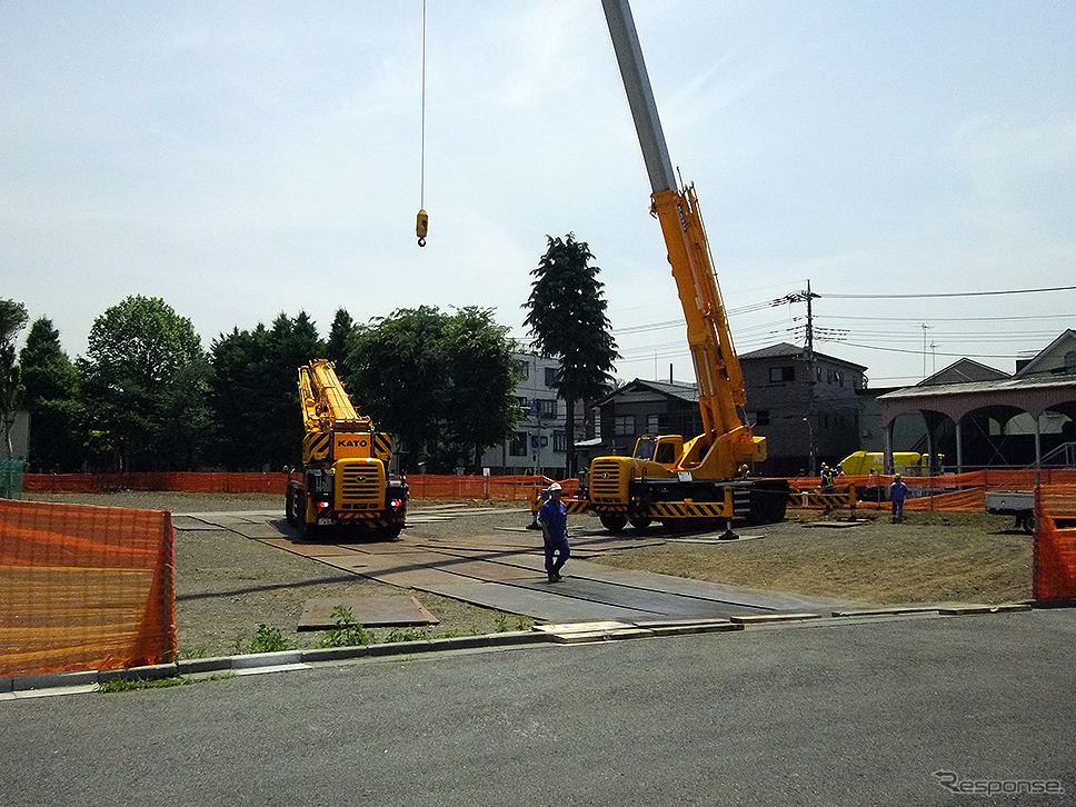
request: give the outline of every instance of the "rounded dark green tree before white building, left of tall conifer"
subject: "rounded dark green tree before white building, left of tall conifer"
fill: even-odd
[[[449,318],[442,332],[448,362],[446,431],[466,447],[467,465],[481,470],[482,449],[499,444],[516,429],[519,404],[518,346],[508,328],[494,321],[492,310],[464,308]]]

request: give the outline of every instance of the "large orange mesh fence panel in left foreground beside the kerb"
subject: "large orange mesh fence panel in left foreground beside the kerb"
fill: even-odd
[[[0,675],[176,658],[167,512],[0,500]]]

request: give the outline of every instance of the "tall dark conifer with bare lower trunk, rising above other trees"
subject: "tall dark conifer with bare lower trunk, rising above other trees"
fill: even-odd
[[[620,358],[606,317],[600,269],[590,266],[594,255],[574,233],[546,237],[548,249],[530,273],[535,281],[524,325],[531,346],[545,358],[559,358],[555,386],[567,411],[568,475],[576,474],[576,401],[599,398],[612,382],[614,362]]]

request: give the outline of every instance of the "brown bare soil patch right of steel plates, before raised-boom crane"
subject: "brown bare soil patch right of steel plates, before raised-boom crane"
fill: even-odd
[[[609,552],[601,562],[748,588],[879,605],[1010,602],[1032,596],[1032,537],[985,512],[790,511],[780,525],[737,527],[719,545],[677,540]]]

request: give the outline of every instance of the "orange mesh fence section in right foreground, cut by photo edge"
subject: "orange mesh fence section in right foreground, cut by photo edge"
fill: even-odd
[[[1035,599],[1076,598],[1076,485],[1050,485],[1035,497]]]

